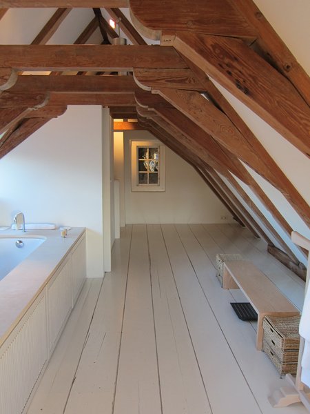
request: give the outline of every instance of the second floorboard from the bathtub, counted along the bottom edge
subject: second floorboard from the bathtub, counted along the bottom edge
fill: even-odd
[[[127,227],[121,242],[114,242],[113,270],[105,273],[65,414],[110,414],[113,411],[131,230],[131,226]]]

